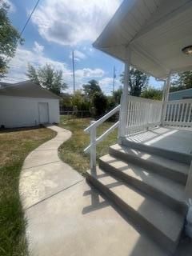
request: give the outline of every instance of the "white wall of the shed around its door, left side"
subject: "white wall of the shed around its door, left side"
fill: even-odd
[[[59,122],[59,101],[52,98],[26,98],[0,95],[0,126],[6,128],[39,125],[38,102],[47,102],[49,122]]]

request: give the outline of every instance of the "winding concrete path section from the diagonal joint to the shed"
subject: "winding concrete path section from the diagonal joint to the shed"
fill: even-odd
[[[27,209],[81,182],[82,176],[58,158],[58,146],[70,138],[68,130],[48,126],[58,134],[32,151],[22,166],[19,190]]]

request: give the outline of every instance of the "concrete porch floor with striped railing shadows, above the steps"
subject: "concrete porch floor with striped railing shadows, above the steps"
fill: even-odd
[[[192,154],[192,130],[158,127],[130,135],[127,140],[183,154]]]

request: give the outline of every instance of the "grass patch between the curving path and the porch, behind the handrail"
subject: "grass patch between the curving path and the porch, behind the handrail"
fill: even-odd
[[[82,175],[86,174],[86,170],[90,169],[90,155],[84,154],[83,150],[90,144],[90,134],[85,134],[83,130],[90,125],[90,118],[67,118],[61,116],[60,126],[70,130],[72,137],[59,148],[59,156],[70,166],[78,170]],[[112,126],[112,122],[104,122],[97,128],[97,136],[101,135],[105,130]],[[104,154],[108,154],[110,145],[117,142],[117,130],[114,130],[105,140],[97,146],[97,161]]]

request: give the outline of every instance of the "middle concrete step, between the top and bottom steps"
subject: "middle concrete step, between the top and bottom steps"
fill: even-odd
[[[124,162],[109,154],[99,159],[99,167],[156,198],[179,214],[186,215],[185,187],[161,175],[149,172],[133,163]]]

